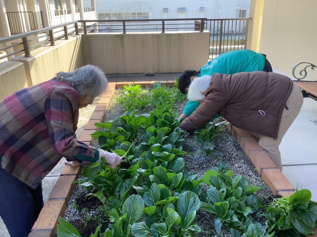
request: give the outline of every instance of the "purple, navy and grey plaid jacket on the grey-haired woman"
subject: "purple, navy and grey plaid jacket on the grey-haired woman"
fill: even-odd
[[[76,138],[78,113],[78,92],[55,78],[6,96],[0,101],[3,169],[36,188],[62,156],[95,160],[96,149]]]

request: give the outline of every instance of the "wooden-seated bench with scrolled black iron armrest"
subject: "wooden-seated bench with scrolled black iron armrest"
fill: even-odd
[[[300,70],[299,74],[302,76],[301,78],[297,78],[295,75],[294,75],[294,72],[295,72],[295,68],[300,65],[300,64],[309,64],[307,66],[304,67],[304,69]],[[306,97],[309,97],[309,98],[312,98],[313,100],[316,100],[317,101],[317,80],[315,81],[305,81],[305,80],[302,80],[304,79],[306,76],[307,76],[307,71],[306,69],[308,67],[311,67],[312,70],[314,70],[315,66],[314,64],[310,64],[310,63],[306,63],[306,62],[301,62],[299,64],[296,64],[293,68],[293,76],[297,79],[297,80],[293,80],[296,85],[301,88],[302,90],[302,93],[303,93],[303,96],[304,98]],[[304,72],[304,75],[302,74],[302,72]]]

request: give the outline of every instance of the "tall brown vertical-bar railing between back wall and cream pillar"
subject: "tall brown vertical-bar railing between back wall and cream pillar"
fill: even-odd
[[[233,50],[246,49],[251,19],[207,19],[206,30],[210,32],[209,58]]]

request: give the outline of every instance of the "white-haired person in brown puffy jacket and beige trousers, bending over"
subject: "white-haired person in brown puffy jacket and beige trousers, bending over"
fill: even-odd
[[[273,72],[213,73],[195,77],[187,98],[202,100],[180,127],[201,128],[217,113],[233,126],[248,131],[282,170],[279,145],[301,110],[301,89],[287,76]]]

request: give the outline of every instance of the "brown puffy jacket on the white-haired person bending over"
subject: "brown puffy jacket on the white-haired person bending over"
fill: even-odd
[[[206,99],[180,127],[192,132],[218,113],[240,129],[277,138],[292,88],[290,78],[273,72],[213,73]]]

